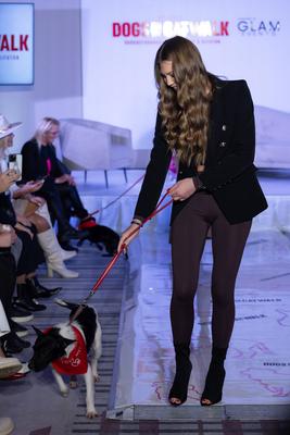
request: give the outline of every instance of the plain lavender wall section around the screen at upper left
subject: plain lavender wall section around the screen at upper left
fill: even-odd
[[[0,86],[0,113],[11,122],[24,123],[16,132],[15,150],[33,135],[42,116],[83,115],[80,0],[34,3],[35,84]]]

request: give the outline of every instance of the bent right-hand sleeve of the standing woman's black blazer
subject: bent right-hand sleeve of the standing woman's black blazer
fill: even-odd
[[[232,89],[234,90],[234,89]],[[229,152],[199,175],[204,187],[216,190],[253,164],[255,152],[255,124],[253,101],[245,80],[239,82],[230,99],[234,121],[232,142]]]

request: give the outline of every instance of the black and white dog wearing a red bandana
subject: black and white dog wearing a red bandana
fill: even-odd
[[[56,303],[71,309],[70,319],[78,309],[78,304],[56,299]],[[37,339],[34,345],[34,356],[28,368],[35,372],[52,365],[52,373],[59,385],[61,395],[68,395],[68,387],[61,374],[71,375],[70,386],[76,387],[76,375],[83,374],[86,383],[87,417],[92,419],[98,415],[94,408],[94,382],[99,381],[98,360],[102,352],[101,326],[98,314],[93,308],[86,306],[76,320],[70,324],[60,323],[41,332],[34,327]],[[88,353],[92,350],[91,361]]]

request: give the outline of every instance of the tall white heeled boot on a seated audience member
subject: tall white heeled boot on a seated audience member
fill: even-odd
[[[78,272],[70,271],[66,269],[62,253],[59,248],[59,243],[55,233],[52,228],[47,229],[43,233],[37,234],[39,245],[41,246],[48,268],[48,276],[52,277],[53,272],[56,272],[62,278],[76,278]]]

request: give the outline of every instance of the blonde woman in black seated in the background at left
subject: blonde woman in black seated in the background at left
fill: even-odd
[[[53,140],[59,136],[60,123],[45,117],[38,125],[33,139],[22,148],[24,181],[45,179],[38,196],[46,199],[51,216],[58,221],[59,240],[65,246],[71,238],[78,238],[81,232],[70,225],[74,213],[79,219],[88,216],[72,175],[58,160]]]

